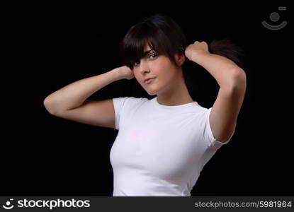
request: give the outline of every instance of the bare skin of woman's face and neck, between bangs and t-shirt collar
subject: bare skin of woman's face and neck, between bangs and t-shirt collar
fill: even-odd
[[[184,55],[176,55],[176,64],[169,57],[157,55],[148,45],[144,52],[149,52],[137,61],[132,69],[135,78],[149,95],[157,95],[161,105],[183,105],[193,102],[183,79],[181,65],[185,61]],[[156,77],[152,83],[145,83],[145,79]]]

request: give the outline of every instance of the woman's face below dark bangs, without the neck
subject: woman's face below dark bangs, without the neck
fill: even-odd
[[[149,95],[157,95],[166,89],[169,89],[173,81],[178,77],[179,67],[166,57],[158,55],[149,45],[145,45],[145,57],[134,64],[135,78]],[[154,78],[145,82],[147,78]]]

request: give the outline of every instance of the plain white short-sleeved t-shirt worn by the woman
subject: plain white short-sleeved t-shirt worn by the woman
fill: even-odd
[[[110,153],[113,196],[191,196],[203,166],[232,138],[213,137],[212,107],[198,102],[167,106],[157,97],[124,97],[113,105],[119,130]]]

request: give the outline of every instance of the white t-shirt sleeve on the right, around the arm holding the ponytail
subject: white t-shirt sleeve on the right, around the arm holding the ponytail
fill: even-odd
[[[225,142],[220,142],[220,141],[217,141],[217,139],[215,139],[215,137],[213,136],[213,131],[211,130],[210,121],[209,121],[209,115],[212,108],[213,107],[210,107],[209,109],[205,111],[205,121],[204,121],[205,124],[204,124],[203,135],[204,135],[205,141],[208,143],[208,146],[215,146],[215,148],[220,148],[220,146],[227,144],[230,141],[230,139],[232,139],[232,136],[234,135],[234,131],[232,135],[230,136],[230,139],[228,139]]]

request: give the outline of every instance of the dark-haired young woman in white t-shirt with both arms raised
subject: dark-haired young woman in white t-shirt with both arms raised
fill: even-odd
[[[191,196],[203,166],[232,138],[244,100],[246,75],[227,52],[233,46],[187,45],[179,25],[157,14],[132,26],[121,47],[125,66],[55,91],[45,107],[57,117],[119,130],[110,153],[113,196]],[[186,59],[219,84],[213,107],[201,107],[189,95],[181,67]],[[134,77],[156,97],[87,99]]]

